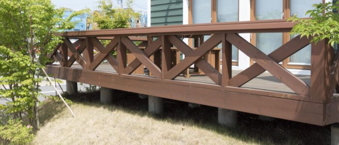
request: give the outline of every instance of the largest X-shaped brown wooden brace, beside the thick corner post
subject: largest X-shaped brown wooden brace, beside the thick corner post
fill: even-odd
[[[307,46],[309,44],[309,40],[307,38],[304,37],[300,39],[298,36],[292,39],[289,43],[279,47],[269,55],[265,55],[257,47],[251,43],[248,43],[238,34],[227,34],[226,40],[256,62],[242,73],[239,73],[235,77],[231,78],[229,83],[230,86],[240,87],[264,71],[268,71],[287,87],[291,88],[295,93],[308,96],[309,86],[304,81],[279,65],[280,61]]]

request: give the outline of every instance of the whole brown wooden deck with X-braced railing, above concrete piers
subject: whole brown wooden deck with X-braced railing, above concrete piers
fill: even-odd
[[[294,75],[278,62],[310,44],[309,38],[295,37],[266,55],[238,35],[289,32],[294,25],[286,20],[263,20],[57,33],[64,42],[48,57],[61,65],[47,64],[46,72],[73,82],[320,126],[337,123],[339,53],[327,40],[311,43],[311,75],[306,76]],[[203,35],[211,37],[201,41]],[[194,46],[182,38],[194,39]],[[100,39],[111,41],[104,46]],[[136,41],[142,43],[137,46]],[[205,59],[220,43],[221,69]],[[256,63],[246,70],[232,70],[232,45]],[[178,55],[173,56],[171,48],[185,58],[173,61]],[[114,51],[116,57],[111,55]],[[127,52],[134,60],[127,60]],[[108,64],[101,64],[105,59]],[[205,75],[183,77],[192,64]],[[152,76],[133,74],[140,66]]]

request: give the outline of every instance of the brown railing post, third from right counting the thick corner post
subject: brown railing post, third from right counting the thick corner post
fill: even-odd
[[[162,50],[161,50],[161,78],[166,78],[166,73],[170,71],[171,68],[171,50],[170,50],[170,42],[167,36],[161,36],[162,41]]]

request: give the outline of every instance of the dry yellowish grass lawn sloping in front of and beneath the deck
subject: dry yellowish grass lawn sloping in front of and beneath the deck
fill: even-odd
[[[244,144],[327,144],[326,137],[301,138],[289,131],[300,125],[281,125],[281,121],[262,122],[253,115],[242,115],[237,129],[216,123],[216,108],[203,106],[186,109],[183,102],[167,101],[163,116],[147,112],[147,100],[132,93],[117,97],[113,104],[98,103],[98,93],[90,99],[74,99],[72,117],[61,102],[48,100],[40,109],[42,127],[34,145],[244,145]],[[86,95],[85,95],[86,96]],[[85,100],[79,102],[79,100]],[[240,116],[240,117],[242,117]],[[254,122],[253,122],[254,121]],[[258,123],[259,122],[259,123]],[[262,122],[260,124],[260,122]],[[283,120],[283,122],[286,122]],[[291,121],[289,121],[291,122]],[[254,123],[254,124],[253,124]],[[309,126],[301,127],[309,128]],[[318,135],[327,129],[311,126]],[[285,130],[287,129],[287,130]],[[300,130],[296,129],[296,130]],[[308,129],[306,129],[308,130]],[[302,131],[302,129],[301,129]],[[304,133],[314,134],[314,132]],[[316,136],[316,134],[314,135]]]

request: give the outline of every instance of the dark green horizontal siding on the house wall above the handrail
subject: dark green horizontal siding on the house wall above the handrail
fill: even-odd
[[[182,24],[183,0],[151,0],[151,26]]]

